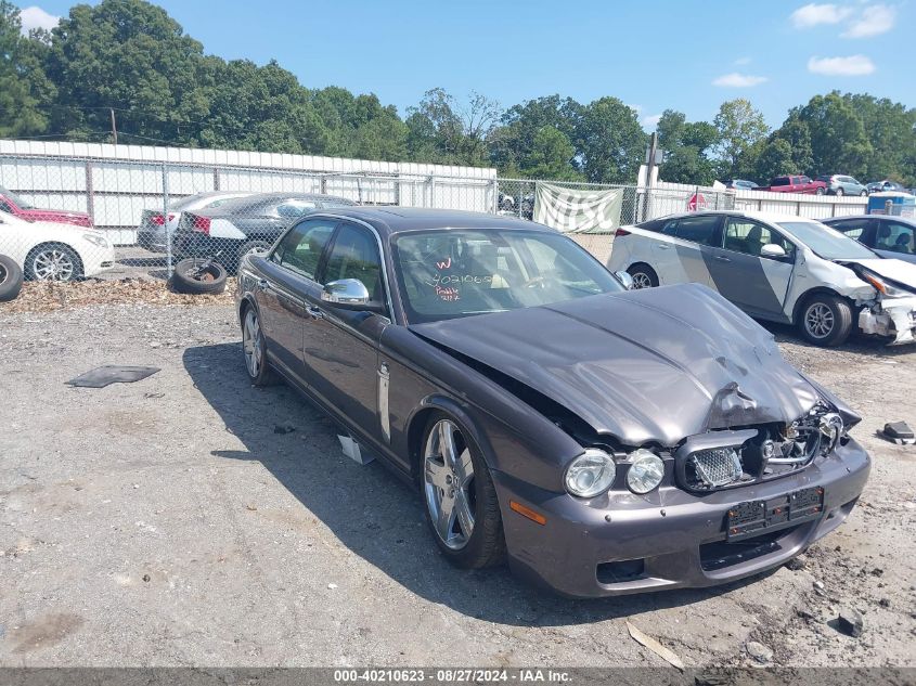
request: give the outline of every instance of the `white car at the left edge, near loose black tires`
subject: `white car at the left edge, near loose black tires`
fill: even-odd
[[[50,221],[24,221],[0,211],[0,255],[11,257],[26,281],[75,281],[115,263],[115,248],[100,232]]]

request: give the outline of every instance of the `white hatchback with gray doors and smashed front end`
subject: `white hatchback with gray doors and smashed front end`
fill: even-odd
[[[608,268],[637,288],[700,283],[747,314],[798,326],[817,346],[857,327],[916,340],[916,264],[882,259],[813,219],[762,212],[672,215],[622,226]]]

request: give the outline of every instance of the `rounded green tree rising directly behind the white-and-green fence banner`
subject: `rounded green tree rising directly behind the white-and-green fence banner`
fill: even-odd
[[[588,180],[634,182],[645,157],[647,138],[636,112],[617,98],[602,98],[583,107],[575,144]]]

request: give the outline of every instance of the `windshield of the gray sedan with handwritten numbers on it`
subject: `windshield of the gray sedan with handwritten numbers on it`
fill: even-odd
[[[623,290],[576,243],[534,231],[408,234],[395,244],[395,271],[413,324]]]

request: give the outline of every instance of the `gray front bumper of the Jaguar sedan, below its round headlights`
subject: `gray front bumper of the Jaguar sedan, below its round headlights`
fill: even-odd
[[[609,505],[595,506],[499,471],[493,481],[513,570],[562,595],[597,597],[711,586],[782,565],[846,519],[869,468],[867,453],[849,440],[797,474],[704,496],[663,488],[647,496],[618,493]],[[764,534],[766,545],[756,552],[753,539],[725,544],[730,508],[818,486],[824,508],[816,519]],[[520,516],[509,501],[542,514],[546,523]]]

